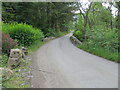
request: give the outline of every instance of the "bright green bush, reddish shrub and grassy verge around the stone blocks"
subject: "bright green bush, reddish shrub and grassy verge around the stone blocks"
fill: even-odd
[[[11,49],[27,47],[29,49],[29,53],[32,53],[43,44],[43,32],[37,28],[33,28],[31,25],[22,23],[3,23],[2,26],[1,67],[7,67],[8,57]],[[12,69],[14,75],[11,77],[6,77],[4,75],[5,71],[3,71],[3,87],[29,88],[30,82],[28,82],[28,79],[30,79],[30,68],[28,67],[30,64],[31,61],[22,61],[17,68]]]

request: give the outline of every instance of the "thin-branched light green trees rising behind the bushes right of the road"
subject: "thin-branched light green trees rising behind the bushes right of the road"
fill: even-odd
[[[89,4],[87,4],[89,3]],[[112,15],[112,6],[113,3],[108,3],[109,6],[105,7],[101,2],[87,2],[87,8],[85,8],[81,2],[77,2],[78,9],[80,11],[77,14],[77,22],[75,24],[76,29],[79,29],[82,32],[83,40],[87,40],[89,35],[88,32],[92,32],[92,29],[95,26],[103,26],[107,29],[115,28],[115,18]],[[119,21],[119,20],[118,20]]]

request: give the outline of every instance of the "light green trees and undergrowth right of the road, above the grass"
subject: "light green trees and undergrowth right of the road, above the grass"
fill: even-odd
[[[75,23],[76,31],[74,35],[81,40],[88,48],[102,47],[108,51],[120,51],[118,33],[120,28],[119,3],[107,3],[105,7],[101,2],[92,2],[87,9],[77,3],[80,13]],[[117,6],[116,6],[117,5]],[[118,13],[112,15],[112,7],[117,7]],[[117,10],[116,9],[116,10]],[[115,14],[115,13],[114,13]]]

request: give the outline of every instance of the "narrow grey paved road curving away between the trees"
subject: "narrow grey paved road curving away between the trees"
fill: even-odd
[[[70,35],[50,41],[35,53],[38,73],[33,87],[118,88],[118,64],[78,49]]]

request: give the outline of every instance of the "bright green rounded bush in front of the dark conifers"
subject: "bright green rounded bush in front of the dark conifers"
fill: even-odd
[[[41,30],[23,23],[3,24],[3,31],[18,41],[19,45],[30,46],[36,40],[43,40]]]

